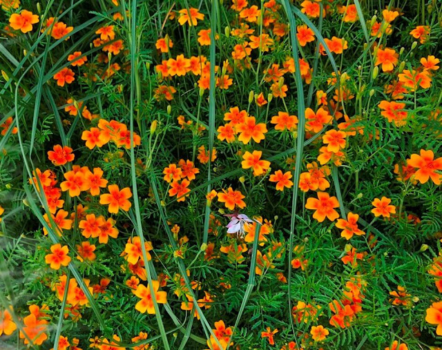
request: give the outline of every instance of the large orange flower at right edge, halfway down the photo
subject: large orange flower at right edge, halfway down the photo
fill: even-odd
[[[430,178],[437,186],[441,184],[442,174],[436,171],[442,171],[442,157],[434,159],[432,150],[421,150],[421,155],[412,155],[410,159],[407,159],[407,165],[419,168],[414,174],[414,179],[421,184],[425,184]]]

